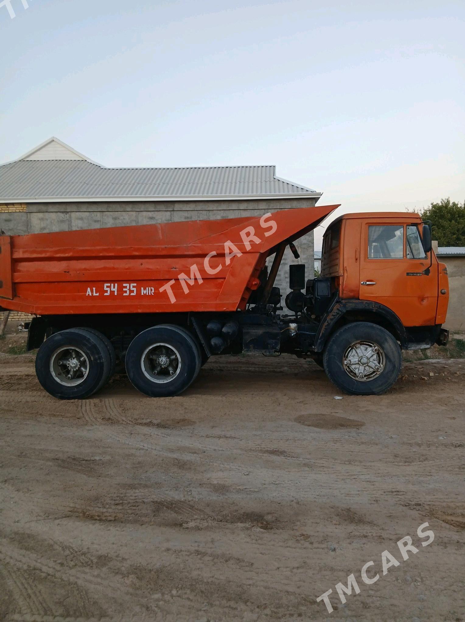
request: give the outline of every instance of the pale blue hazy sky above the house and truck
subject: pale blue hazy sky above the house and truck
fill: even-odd
[[[465,199],[463,0],[10,2],[0,162],[56,136],[109,167],[274,164],[338,213]]]

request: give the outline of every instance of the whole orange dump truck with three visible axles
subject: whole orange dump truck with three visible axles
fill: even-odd
[[[61,399],[124,368],[148,396],[178,395],[212,355],[283,352],[313,358],[343,391],[381,394],[402,349],[447,343],[447,271],[420,216],[347,214],[325,233],[321,277],[289,266],[282,312],[284,250],[299,259],[294,241],[336,207],[2,236],[0,308],[36,316],[28,349]]]

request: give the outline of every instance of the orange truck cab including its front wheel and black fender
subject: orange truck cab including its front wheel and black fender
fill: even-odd
[[[304,315],[317,324],[311,356],[343,391],[384,392],[399,375],[401,350],[448,341],[447,268],[417,214],[340,216],[323,237],[321,277],[307,281],[306,293]]]

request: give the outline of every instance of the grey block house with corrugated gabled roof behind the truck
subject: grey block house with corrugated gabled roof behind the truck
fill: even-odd
[[[274,166],[108,168],[54,137],[0,165],[0,229],[9,235],[257,216],[320,197]],[[313,233],[296,246],[312,269]],[[276,281],[283,294],[285,266],[296,262],[287,249]]]

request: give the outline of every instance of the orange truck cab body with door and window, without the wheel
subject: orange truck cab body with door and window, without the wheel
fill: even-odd
[[[425,252],[423,228],[408,213],[338,218],[323,238],[322,277],[341,299],[384,305],[404,327],[437,327],[445,322],[447,270]]]

